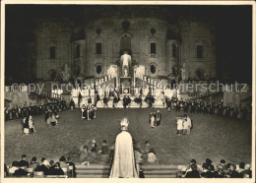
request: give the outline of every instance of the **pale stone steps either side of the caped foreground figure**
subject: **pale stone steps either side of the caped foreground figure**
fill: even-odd
[[[77,178],[108,178],[110,167],[108,165],[76,165]],[[144,165],[142,169],[145,178],[176,178],[180,170],[178,165]]]

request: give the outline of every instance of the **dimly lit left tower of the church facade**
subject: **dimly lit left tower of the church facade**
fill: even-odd
[[[59,73],[71,65],[71,23],[64,20],[43,21],[36,29],[36,78],[51,80],[52,72]],[[50,46],[55,46],[55,58],[50,59]]]

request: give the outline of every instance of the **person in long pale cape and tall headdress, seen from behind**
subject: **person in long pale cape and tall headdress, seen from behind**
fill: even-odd
[[[132,136],[127,132],[129,121],[121,120],[122,132],[116,136],[115,152],[109,178],[138,178]]]

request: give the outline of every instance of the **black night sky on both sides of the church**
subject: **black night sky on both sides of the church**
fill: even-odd
[[[84,22],[80,5],[7,5],[6,6],[6,76],[28,80],[23,72],[28,50],[34,41],[34,28],[40,19],[68,18]],[[196,18],[216,27],[218,77],[224,82],[251,83],[252,78],[252,7],[251,6],[164,6],[172,20]],[[14,67],[16,66],[16,67]],[[16,69],[17,68],[17,69]],[[29,71],[30,72],[30,71]],[[228,73],[231,78],[225,78]],[[21,80],[22,80],[21,79]]]

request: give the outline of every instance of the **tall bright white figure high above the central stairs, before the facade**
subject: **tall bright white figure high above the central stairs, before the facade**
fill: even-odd
[[[128,54],[128,51],[125,51],[123,55],[121,55],[120,61],[120,70],[121,77],[131,77],[132,72],[132,59],[131,55]]]

